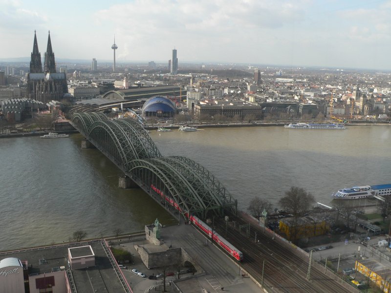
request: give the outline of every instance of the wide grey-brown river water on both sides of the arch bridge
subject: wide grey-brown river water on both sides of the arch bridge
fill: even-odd
[[[345,130],[269,127],[150,133],[164,156],[189,157],[211,171],[246,209],[261,196],[275,207],[291,186],[331,203],[339,188],[391,183],[391,126]],[[0,139],[0,250],[142,230],[174,219],[140,189],[118,188],[121,172],[82,136]]]

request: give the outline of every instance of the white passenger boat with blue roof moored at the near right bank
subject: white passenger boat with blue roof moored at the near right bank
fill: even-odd
[[[355,186],[351,188],[339,189],[333,193],[335,199],[360,199],[374,195],[391,195],[391,184]]]

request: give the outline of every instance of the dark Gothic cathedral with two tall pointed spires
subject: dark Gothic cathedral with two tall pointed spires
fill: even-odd
[[[52,43],[47,39],[47,48],[42,68],[41,53],[38,50],[37,34],[34,32],[33,52],[31,53],[30,72],[27,76],[28,98],[43,103],[61,99],[68,92],[66,75],[64,72],[56,72],[56,62]]]

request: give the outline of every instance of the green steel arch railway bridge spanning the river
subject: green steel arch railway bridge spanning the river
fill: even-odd
[[[75,113],[74,126],[127,177],[172,214],[236,212],[237,201],[206,168],[181,156],[163,157],[135,120],[109,120],[102,113]]]

